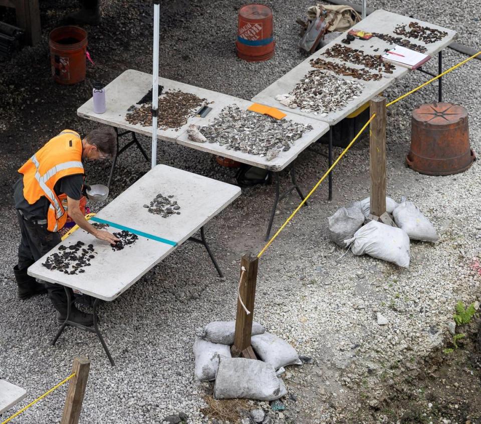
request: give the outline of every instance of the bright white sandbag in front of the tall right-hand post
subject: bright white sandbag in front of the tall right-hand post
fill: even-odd
[[[409,237],[404,230],[377,221],[359,228],[354,237],[344,241],[351,245],[352,253],[394,262],[409,268]]]

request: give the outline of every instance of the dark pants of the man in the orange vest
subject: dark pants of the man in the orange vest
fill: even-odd
[[[62,241],[59,233],[47,230],[47,224],[37,224],[25,219],[17,211],[22,239],[19,246],[19,270],[27,270],[34,262],[39,260],[48,251]],[[67,313],[67,295],[65,289],[59,284],[44,281],[48,296],[55,309],[62,314]],[[70,290],[70,289],[69,289]]]

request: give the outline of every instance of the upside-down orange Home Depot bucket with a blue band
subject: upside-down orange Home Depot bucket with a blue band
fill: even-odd
[[[239,10],[237,56],[249,62],[267,61],[274,56],[272,10],[265,5],[247,5]]]

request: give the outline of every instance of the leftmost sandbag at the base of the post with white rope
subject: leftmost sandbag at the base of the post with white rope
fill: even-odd
[[[211,343],[201,338],[195,339],[192,350],[195,357],[194,376],[198,381],[213,380],[219,367],[219,357],[231,357],[226,344]]]

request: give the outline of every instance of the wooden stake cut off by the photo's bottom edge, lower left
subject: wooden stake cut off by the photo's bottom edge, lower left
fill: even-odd
[[[67,399],[65,400],[64,413],[61,424],[78,424],[82,402],[84,400],[85,387],[89,378],[90,360],[86,357],[74,359],[72,373],[75,377],[70,380]]]

